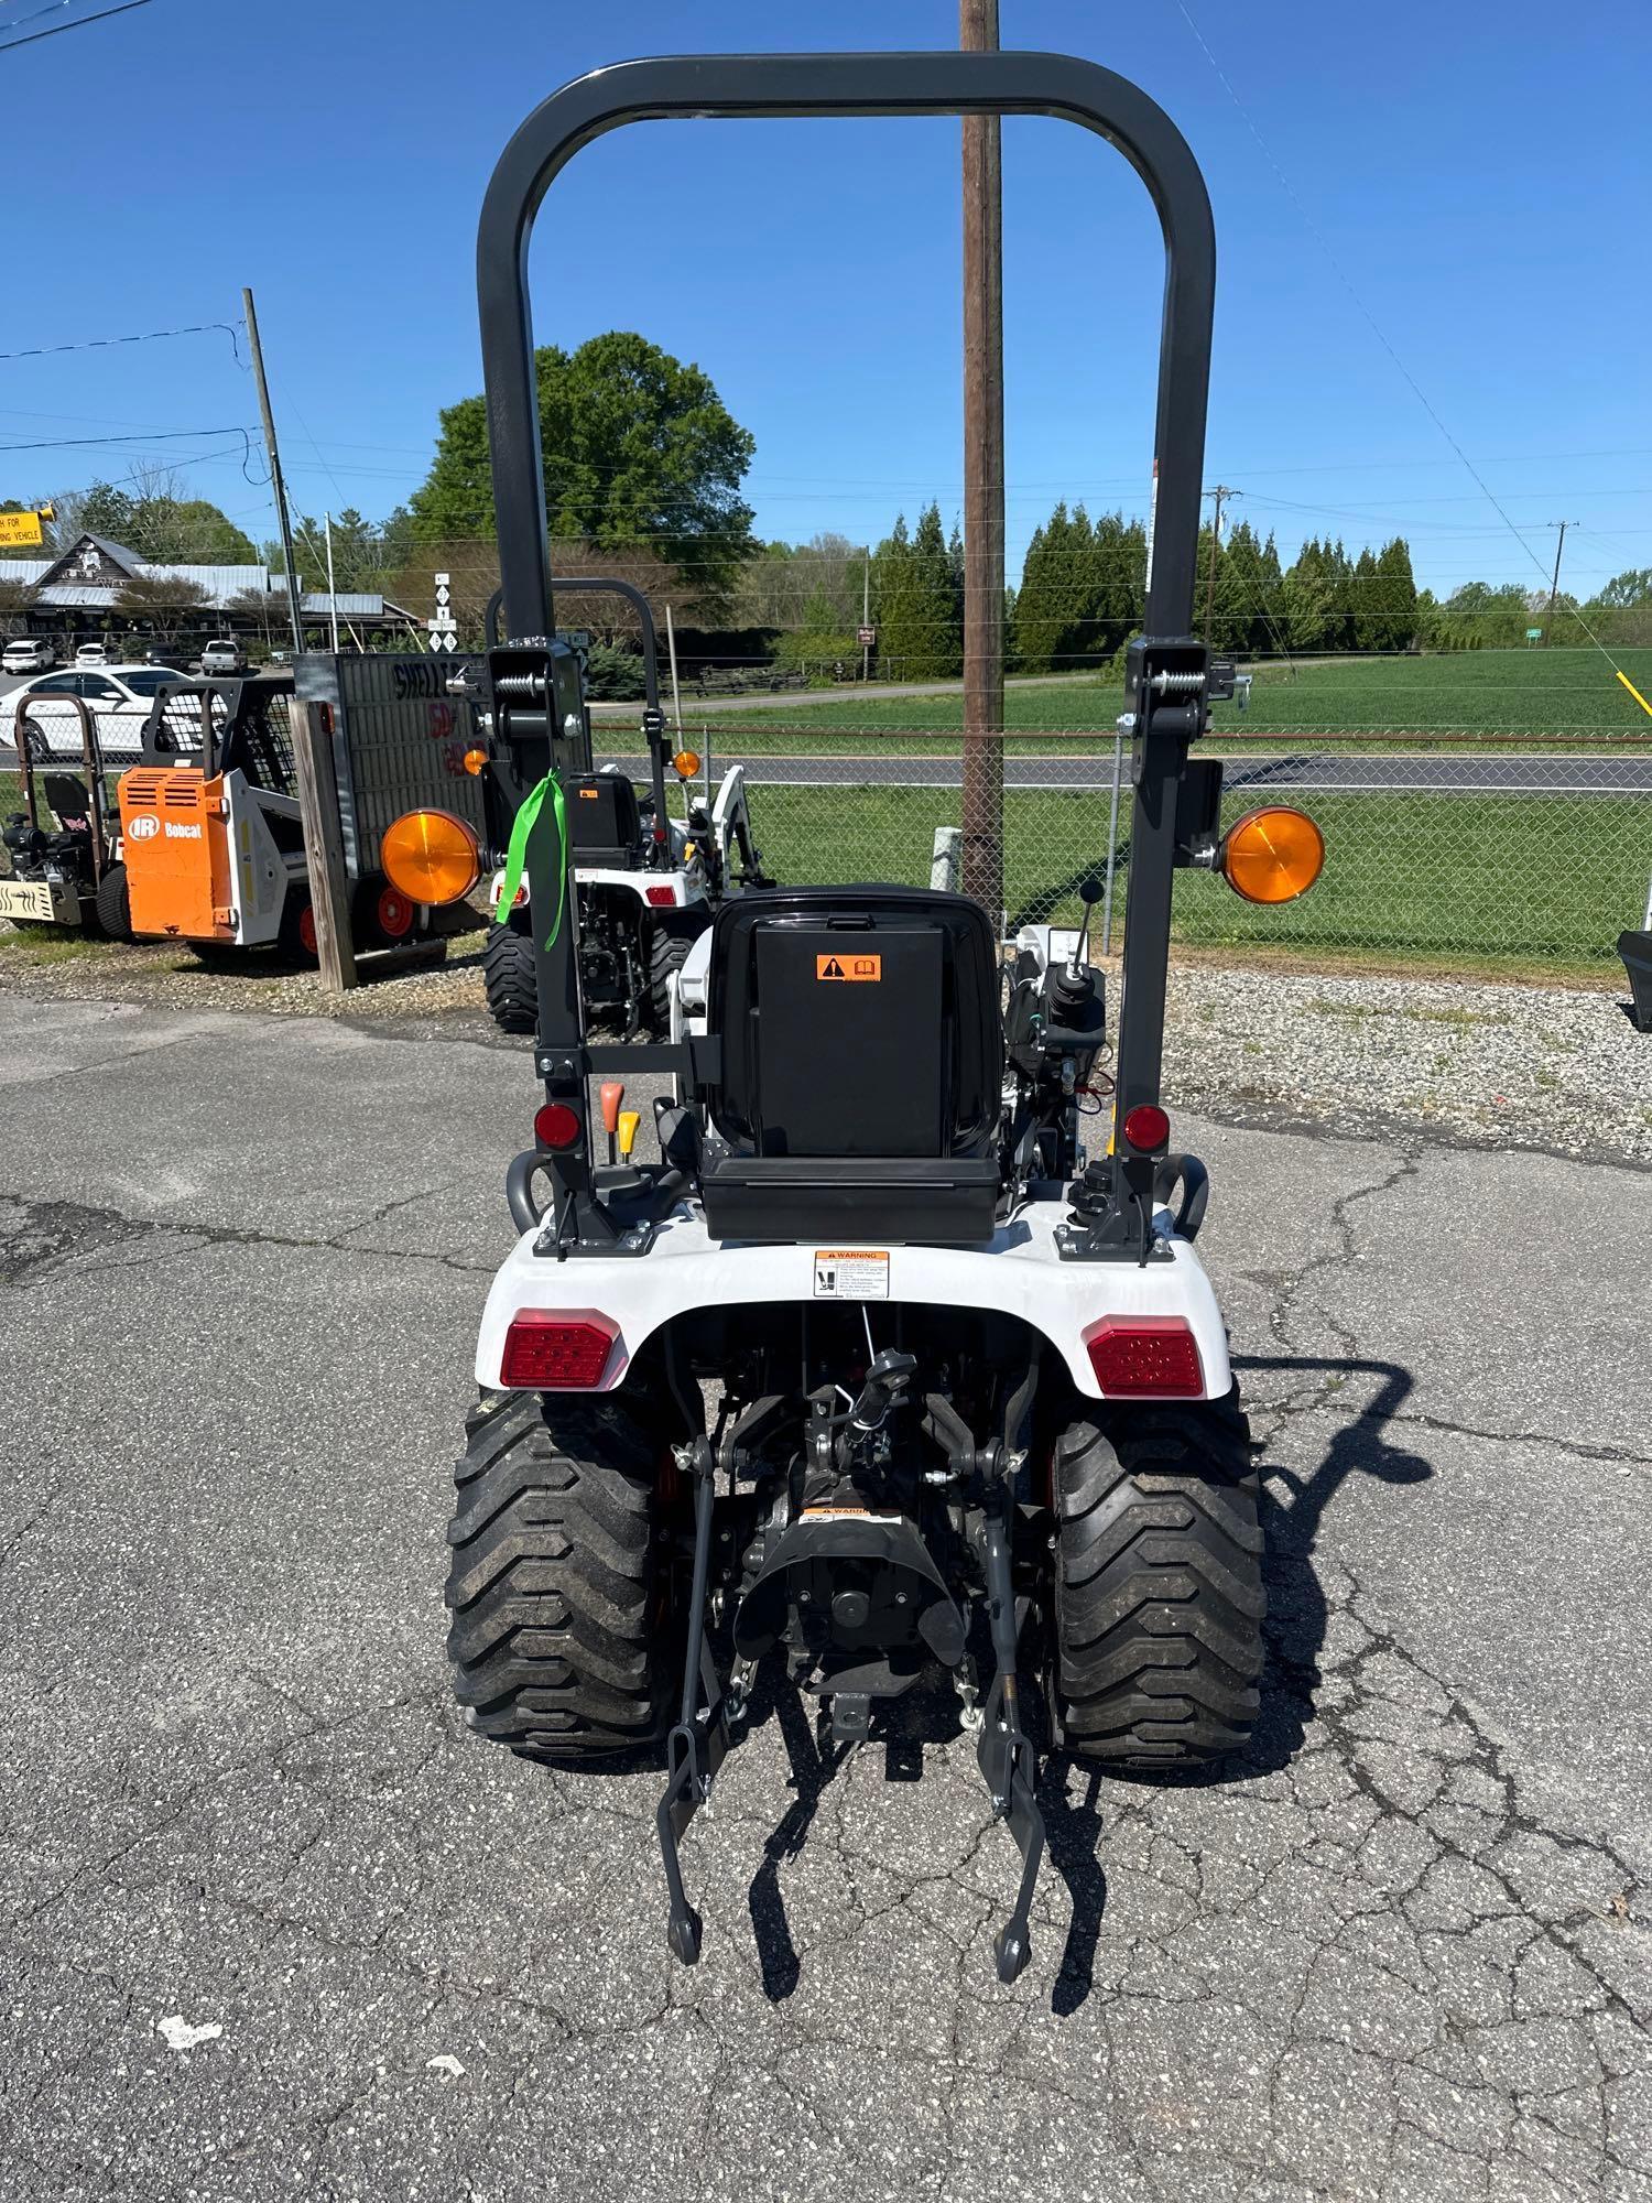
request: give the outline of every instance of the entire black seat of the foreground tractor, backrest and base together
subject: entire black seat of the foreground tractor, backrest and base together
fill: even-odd
[[[1002,1024],[985,912],[927,888],[778,888],[711,927],[711,1238],[991,1238]]]

